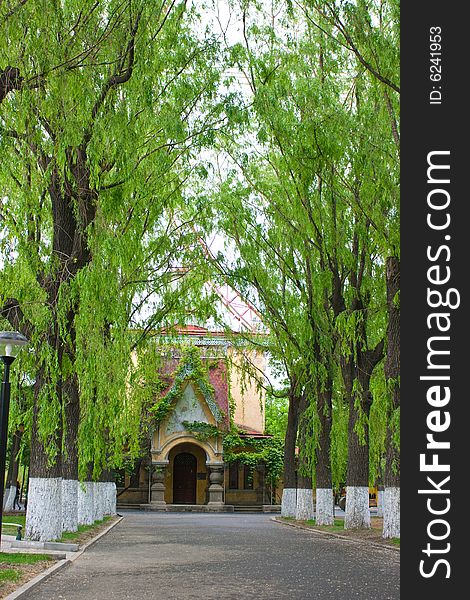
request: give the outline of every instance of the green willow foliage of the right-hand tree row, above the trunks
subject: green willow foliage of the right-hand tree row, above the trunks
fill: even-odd
[[[374,437],[372,470],[387,426],[377,406],[369,431],[369,380],[383,377],[384,265],[399,253],[396,3],[301,2],[280,8],[275,28],[256,7],[244,16],[232,59],[250,80],[250,119],[220,138],[228,166],[212,198],[214,227],[236,253],[214,262],[263,314],[270,353],[300,390],[342,374],[330,447],[340,484],[348,419],[360,443]],[[313,406],[299,442],[306,472],[321,416]]]

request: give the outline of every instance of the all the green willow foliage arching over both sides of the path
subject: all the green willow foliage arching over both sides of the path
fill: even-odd
[[[218,322],[209,278],[239,290],[269,328],[239,336],[245,356],[269,351],[300,391],[334,379],[335,484],[349,395],[353,431],[365,441],[369,428],[371,478],[387,426],[398,447],[383,363],[370,389],[358,373],[385,336],[384,265],[400,253],[399,3],[265,8],[232,3],[244,41],[224,52],[202,33],[197,3],[26,2],[1,20],[1,66],[21,80],[0,102],[0,308],[13,298],[21,314],[0,318],[31,339],[15,365],[11,427],[23,424],[27,439],[35,405],[50,462],[65,456],[64,382],[75,381],[82,477],[90,464],[97,475],[139,456],[187,380],[222,421],[195,350],[162,396],[162,348],[149,339],[175,323]],[[225,247],[207,256],[199,238],[214,232]],[[322,416],[311,402],[308,470]],[[237,460],[252,466],[258,454],[277,473],[286,415],[268,394],[276,441],[250,442],[244,456],[232,427],[228,460],[238,445]]]

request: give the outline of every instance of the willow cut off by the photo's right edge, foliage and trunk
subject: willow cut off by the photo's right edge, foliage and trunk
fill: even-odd
[[[380,259],[385,264],[387,381],[387,453],[385,460],[384,536],[399,537],[399,35],[400,6],[396,0],[380,3],[299,3],[306,19],[337,47],[346,49],[363,74],[359,126],[364,131],[362,170],[374,180],[374,202],[356,196],[356,214],[369,219]],[[364,94],[364,91],[366,92]],[[364,96],[367,97],[364,101]]]

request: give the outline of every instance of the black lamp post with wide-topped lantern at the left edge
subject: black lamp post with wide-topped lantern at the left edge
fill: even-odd
[[[3,380],[0,388],[0,547],[2,543],[3,492],[5,491],[5,464],[7,455],[8,413],[10,410],[10,367],[22,346],[28,340],[16,331],[0,331],[0,359],[3,362]]]

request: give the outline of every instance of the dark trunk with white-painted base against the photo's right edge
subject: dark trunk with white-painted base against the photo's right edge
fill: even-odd
[[[387,282],[387,356],[384,372],[391,401],[387,415],[387,444],[384,473],[383,537],[400,537],[400,449],[394,441],[394,412],[400,406],[400,308],[397,294],[400,290],[400,261],[391,256],[386,261]]]

